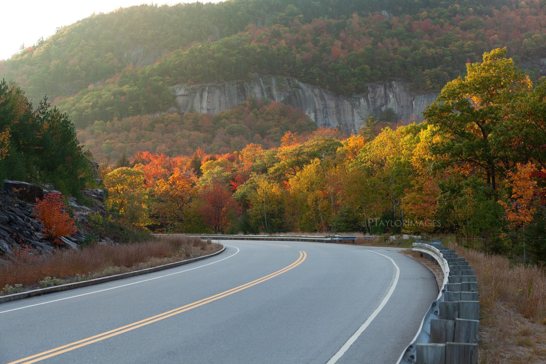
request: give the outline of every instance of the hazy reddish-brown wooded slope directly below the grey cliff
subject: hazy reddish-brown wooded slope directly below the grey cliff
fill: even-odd
[[[183,116],[138,115],[95,121],[78,136],[94,158],[106,160],[121,153],[134,156],[139,151],[179,156],[203,148],[207,153],[230,153],[250,143],[274,148],[288,131],[306,133],[316,129],[303,112],[292,106],[253,99],[215,116],[186,112]]]

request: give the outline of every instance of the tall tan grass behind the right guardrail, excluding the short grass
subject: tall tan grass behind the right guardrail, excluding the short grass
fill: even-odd
[[[525,318],[546,324],[546,271],[536,266],[511,265],[504,256],[486,255],[451,244],[465,256],[476,273],[480,306],[492,308],[496,302],[513,305]]]

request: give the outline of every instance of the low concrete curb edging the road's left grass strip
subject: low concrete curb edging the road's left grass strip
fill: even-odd
[[[54,287],[40,288],[40,289],[34,289],[32,291],[14,293],[14,294],[7,295],[7,296],[0,296],[0,303],[26,299],[28,297],[40,296],[40,295],[53,293],[53,292],[66,291],[66,290],[74,289],[74,288],[87,287],[88,285],[99,284],[99,283],[110,282],[110,281],[116,281],[117,279],[123,279],[123,278],[128,278],[128,277],[133,277],[133,276],[144,275],[146,273],[162,271],[164,269],[174,268],[174,267],[177,267],[177,266],[192,263],[194,261],[199,261],[199,260],[203,260],[203,259],[206,259],[206,258],[211,258],[212,256],[215,256],[215,255],[218,255],[218,254],[222,253],[224,250],[225,250],[225,247],[218,250],[218,252],[212,253],[212,254],[209,254],[209,255],[198,256],[197,258],[192,258],[192,259],[187,259],[187,260],[175,261],[174,263],[158,265],[157,267],[145,268],[145,269],[141,269],[141,270],[138,270],[138,271],[120,273],[120,274],[114,275],[114,276],[94,278],[94,279],[90,279],[88,281],[81,281],[81,282],[74,282],[74,283],[55,285]]]

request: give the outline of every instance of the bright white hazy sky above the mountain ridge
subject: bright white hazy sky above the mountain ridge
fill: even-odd
[[[200,0],[217,3],[219,0]],[[191,3],[195,0],[153,1],[155,4]],[[21,44],[31,46],[40,37],[55,34],[55,28],[70,25],[94,13],[109,13],[118,8],[150,4],[148,0],[0,0],[2,28],[0,59],[7,59],[19,52]]]

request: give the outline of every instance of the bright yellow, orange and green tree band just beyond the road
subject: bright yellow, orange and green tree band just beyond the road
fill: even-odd
[[[104,165],[109,206],[164,232],[455,232],[542,264],[545,99],[544,80],[495,49],[444,86],[424,123],[377,134],[370,118],[359,135],[287,132],[278,148],[140,152]]]

